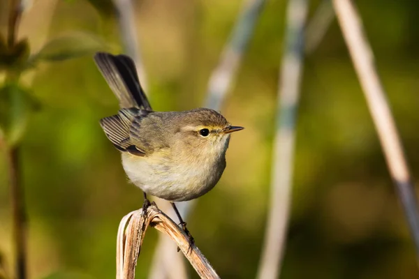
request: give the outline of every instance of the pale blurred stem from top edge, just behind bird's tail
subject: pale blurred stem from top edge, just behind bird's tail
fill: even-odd
[[[147,91],[147,79],[145,77],[144,64],[142,63],[140,45],[138,44],[137,30],[135,28],[133,1],[112,0],[112,3],[117,13],[119,32],[121,33],[121,40],[124,44],[125,52],[134,59],[142,89]]]

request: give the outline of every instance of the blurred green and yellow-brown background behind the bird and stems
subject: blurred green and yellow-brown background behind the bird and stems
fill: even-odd
[[[135,2],[147,93],[155,110],[203,105],[208,77],[241,3]],[[311,1],[310,16],[318,3]],[[419,177],[419,2],[357,4],[406,157]],[[20,38],[29,39],[31,52],[75,31],[78,40],[55,47],[76,52],[103,42],[107,48],[101,50],[123,51],[105,1],[39,0],[31,5],[19,31]],[[221,110],[246,130],[232,137],[221,181],[198,199],[189,216],[197,246],[221,278],[254,278],[258,267],[270,195],[285,8],[284,0],[267,1],[260,15]],[[307,56],[303,79],[281,278],[418,278],[403,211],[336,21]],[[22,84],[41,105],[30,116],[21,153],[30,278],[115,278],[119,220],[142,205],[140,190],[126,182],[119,153],[98,125],[102,117],[115,114],[117,100],[91,54],[39,63],[22,77]],[[1,159],[0,252],[11,267],[6,167]],[[149,230],[138,278],[147,278],[156,240],[157,233]],[[189,269],[191,278],[197,278]]]

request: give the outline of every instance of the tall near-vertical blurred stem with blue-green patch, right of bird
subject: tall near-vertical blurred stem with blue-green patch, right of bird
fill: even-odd
[[[260,279],[278,278],[286,242],[307,6],[307,0],[290,0],[286,12],[286,46],[279,77],[279,110],[276,119],[278,128],[274,140],[272,195],[257,276]]]

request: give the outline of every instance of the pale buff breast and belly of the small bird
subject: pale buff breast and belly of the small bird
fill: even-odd
[[[170,201],[186,201],[214,188],[226,167],[225,152],[155,153],[140,157],[122,153],[122,165],[135,186]]]

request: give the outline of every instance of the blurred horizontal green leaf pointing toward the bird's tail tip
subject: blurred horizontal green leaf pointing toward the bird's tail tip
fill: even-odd
[[[46,43],[38,53],[29,58],[28,67],[35,66],[39,61],[64,61],[94,54],[106,48],[103,40],[91,33],[70,33]]]

